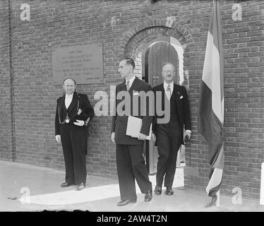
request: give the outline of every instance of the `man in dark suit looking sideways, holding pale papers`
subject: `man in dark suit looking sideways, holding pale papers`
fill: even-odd
[[[112,119],[112,141],[116,143],[116,167],[119,177],[119,189],[121,201],[118,206],[124,206],[128,203],[136,203],[136,185],[135,179],[140,187],[140,191],[145,194],[145,201],[152,199],[152,184],[148,178],[148,169],[143,158],[143,145],[146,137],[150,133],[150,124],[152,116],[148,114],[148,101],[146,101],[146,114],[141,114],[139,102],[133,102],[133,96],[142,95],[151,91],[151,86],[148,83],[141,81],[134,75],[135,63],[133,59],[126,58],[121,60],[119,64],[119,73],[122,78],[125,78],[124,83],[116,86],[116,95],[122,91],[128,94],[131,105],[125,105],[122,109],[128,112],[129,115],[142,119],[142,127],[138,138],[133,138],[126,135],[126,127],[128,115],[121,116],[119,106],[127,101],[119,100],[116,97],[115,112]],[[144,91],[140,93],[140,91]],[[140,102],[143,100],[140,96]],[[128,101],[129,102],[129,101]],[[129,109],[130,107],[130,109]],[[126,109],[125,109],[126,108]],[[138,114],[135,114],[135,109],[138,109]],[[134,109],[134,111],[133,111]]]

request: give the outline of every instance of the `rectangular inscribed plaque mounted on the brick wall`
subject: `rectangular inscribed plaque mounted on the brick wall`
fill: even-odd
[[[102,83],[102,43],[53,49],[52,71],[55,85],[65,78],[73,78],[77,84]]]

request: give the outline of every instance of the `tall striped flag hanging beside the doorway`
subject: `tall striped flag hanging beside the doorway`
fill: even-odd
[[[215,0],[208,31],[198,107],[198,131],[209,144],[210,181],[206,191],[210,197],[215,197],[219,191],[224,169],[222,141],[224,88],[221,29],[220,2]]]

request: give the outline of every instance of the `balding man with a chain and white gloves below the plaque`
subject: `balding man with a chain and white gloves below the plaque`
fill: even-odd
[[[76,93],[76,81],[66,78],[65,94],[59,97],[55,116],[55,137],[61,143],[66,169],[65,182],[61,187],[77,184],[77,190],[85,188],[87,125],[94,116],[87,95]]]

